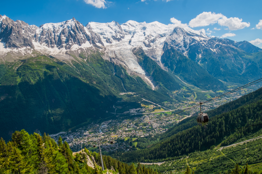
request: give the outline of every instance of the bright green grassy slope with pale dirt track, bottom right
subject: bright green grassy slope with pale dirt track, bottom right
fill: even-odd
[[[209,149],[203,152],[196,151],[179,159],[166,161],[160,166],[151,166],[160,172],[184,173],[187,164],[195,173],[230,173],[238,163],[243,169],[246,163],[252,171],[262,170],[262,139],[224,148],[222,150]]]

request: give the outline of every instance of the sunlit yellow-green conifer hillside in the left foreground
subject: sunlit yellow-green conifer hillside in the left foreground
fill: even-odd
[[[91,160],[94,159],[94,160]],[[96,164],[97,161],[97,164]],[[102,171],[100,156],[86,148],[72,153],[67,142],[57,143],[48,135],[41,137],[25,130],[15,131],[12,141],[0,140],[0,173],[154,173],[156,171],[103,155]],[[112,169],[113,167],[113,169]],[[107,170],[108,169],[108,170]]]

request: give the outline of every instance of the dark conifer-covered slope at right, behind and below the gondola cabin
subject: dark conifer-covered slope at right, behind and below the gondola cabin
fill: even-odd
[[[261,126],[247,127],[262,123],[262,89],[209,111],[208,125],[199,127],[195,117],[185,119],[159,137],[163,144],[138,151],[114,154],[121,161],[163,161],[192,152],[203,151],[211,146],[230,145],[250,134],[255,134]],[[161,138],[162,137],[162,138]]]

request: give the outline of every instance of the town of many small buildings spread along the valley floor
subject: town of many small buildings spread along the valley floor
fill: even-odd
[[[227,95],[227,97],[221,97],[210,103],[203,104],[202,111],[208,111],[219,107],[220,105],[235,100],[251,91],[252,89],[234,92]],[[100,141],[100,148],[104,154],[113,151],[132,151],[139,149],[139,147],[136,147],[137,142],[133,142],[138,137],[162,134],[167,131],[168,128],[179,123],[183,119],[199,112],[199,107],[190,108],[199,102],[200,101],[197,101],[193,96],[191,96],[187,101],[177,104],[165,102],[164,106],[160,106],[161,109],[159,109],[159,106],[157,106],[157,109],[154,109],[154,107],[156,107],[154,104],[149,105],[148,107],[142,106],[142,108],[134,108],[130,109],[129,112],[125,112],[125,114],[128,113],[129,115],[134,115],[135,117],[132,119],[119,118],[104,121],[102,123],[91,123],[74,131],[60,132],[50,136],[56,142],[58,142],[58,138],[61,136],[63,141],[66,141],[69,144],[73,152],[77,152],[85,147],[91,151],[98,151],[97,139]],[[167,109],[170,108],[170,105],[176,107],[176,109]],[[176,114],[176,112],[183,109],[188,110]],[[130,141],[127,140],[132,141],[130,143]],[[113,144],[110,144],[110,141],[113,141]]]

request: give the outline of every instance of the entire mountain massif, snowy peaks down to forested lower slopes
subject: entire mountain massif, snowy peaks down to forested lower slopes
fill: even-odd
[[[262,78],[261,59],[262,49],[248,41],[210,38],[189,27],[84,26],[75,18],[37,27],[0,15],[0,135],[54,134],[142,105],[191,95],[205,100]],[[182,89],[188,92],[176,93]]]

